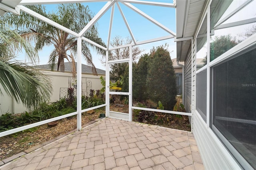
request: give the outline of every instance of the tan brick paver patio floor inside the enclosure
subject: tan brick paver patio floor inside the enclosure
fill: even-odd
[[[102,119],[0,167],[1,170],[203,170],[193,134]]]

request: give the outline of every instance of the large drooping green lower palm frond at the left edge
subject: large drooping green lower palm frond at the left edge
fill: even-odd
[[[17,103],[22,102],[31,109],[50,99],[50,80],[33,67],[18,62],[0,61],[0,70],[0,84]]]

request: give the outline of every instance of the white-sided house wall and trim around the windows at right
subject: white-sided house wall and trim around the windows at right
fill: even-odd
[[[210,4],[206,4],[207,6]],[[209,8],[208,8],[209,9]],[[204,19],[204,14],[207,12],[205,10],[202,13],[202,17],[200,20],[200,23]],[[208,16],[209,17],[209,16]],[[210,18],[210,17],[209,17]],[[198,23],[198,28],[196,30],[196,33],[200,29],[200,23]],[[209,34],[208,34],[209,35]],[[254,37],[253,37],[254,36]],[[254,38],[254,42],[248,42],[247,46],[250,46],[252,42],[255,44],[255,34],[250,39]],[[247,43],[247,42],[246,42]],[[241,43],[242,44],[242,43]],[[243,46],[243,45],[240,45]],[[245,48],[245,47],[244,47]],[[242,51],[243,47],[241,49],[233,48],[233,51],[228,51],[230,54],[223,55],[222,57],[216,59],[215,63],[220,63],[220,61],[224,61],[228,57],[232,56],[236,51]],[[193,53],[191,53],[191,50]],[[228,53],[227,52],[227,53]],[[191,65],[192,64],[192,65]],[[207,93],[210,91],[210,70],[211,66],[214,66],[214,64],[209,64],[207,66],[208,74],[207,74],[207,82],[208,82],[208,88]],[[192,68],[192,70],[191,70]],[[190,53],[188,53],[186,59],[185,59],[185,108],[186,111],[190,111],[190,104],[192,99],[192,132],[194,134],[194,137],[197,142],[197,146],[200,151],[200,155],[202,157],[202,161],[204,163],[205,169],[215,170],[215,169],[242,169],[238,161],[234,158],[234,156],[230,153],[228,148],[223,144],[223,142],[220,140],[220,138],[216,135],[216,132],[212,130],[211,127],[211,114],[210,114],[210,93],[207,94],[208,98],[208,110],[207,110],[207,121],[204,121],[202,119],[202,116],[196,111],[196,34],[193,36],[193,48],[190,49]],[[192,87],[191,87],[192,84]],[[191,90],[192,88],[192,90]],[[192,95],[192,96],[191,96]],[[206,123],[207,122],[207,123]],[[239,154],[237,152],[237,154]],[[250,168],[249,168],[250,169]]]

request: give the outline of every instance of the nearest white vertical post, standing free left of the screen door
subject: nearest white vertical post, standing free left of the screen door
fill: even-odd
[[[76,109],[77,109],[77,130],[82,128],[82,38],[77,38],[77,89],[76,89]]]

